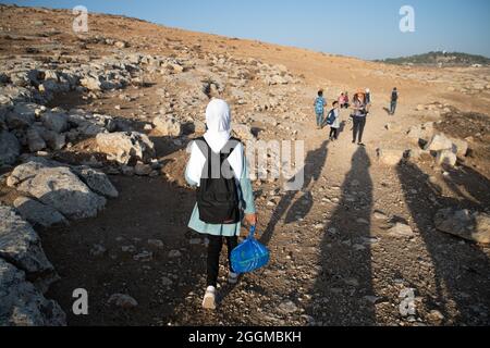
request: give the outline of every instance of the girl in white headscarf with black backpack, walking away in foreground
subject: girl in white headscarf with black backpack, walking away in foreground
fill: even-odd
[[[257,214],[244,146],[231,137],[231,113],[225,101],[213,99],[206,110],[207,133],[192,144],[185,178],[197,186],[197,203],[188,227],[209,239],[207,288],[203,308],[216,309],[216,293],[223,239],[231,252],[238,245],[242,220],[255,226]],[[238,275],[231,269],[229,282]]]

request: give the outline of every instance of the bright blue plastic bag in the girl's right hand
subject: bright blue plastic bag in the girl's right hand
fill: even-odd
[[[250,273],[269,263],[269,250],[255,239],[255,228],[252,226],[247,239],[232,251],[231,262],[234,273]]]

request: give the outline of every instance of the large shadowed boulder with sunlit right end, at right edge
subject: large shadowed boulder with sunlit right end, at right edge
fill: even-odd
[[[490,244],[490,215],[468,210],[443,209],[434,219],[441,232],[479,244]]]

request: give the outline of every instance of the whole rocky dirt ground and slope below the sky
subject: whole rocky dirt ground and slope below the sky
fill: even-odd
[[[0,325],[490,323],[488,69],[95,14],[76,36],[69,11],[0,5]],[[315,129],[318,88],[331,101],[365,87],[365,148],[347,111],[339,141]],[[186,228],[183,171],[212,97],[243,140],[304,140],[306,160],[303,190],[254,177],[271,262],[236,286],[223,268],[205,312],[206,238]],[[77,288],[88,315],[73,314]]]

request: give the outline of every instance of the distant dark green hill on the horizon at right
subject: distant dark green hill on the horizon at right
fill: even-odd
[[[470,66],[475,64],[490,65],[490,59],[482,55],[474,55],[460,52],[429,52],[425,54],[389,58],[377,60],[377,62],[396,65],[445,65],[445,66]]]

